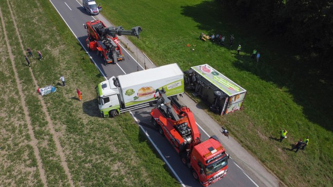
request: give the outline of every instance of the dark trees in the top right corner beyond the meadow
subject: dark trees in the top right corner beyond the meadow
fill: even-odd
[[[217,0],[263,33],[281,36],[302,56],[333,69],[333,0]]]

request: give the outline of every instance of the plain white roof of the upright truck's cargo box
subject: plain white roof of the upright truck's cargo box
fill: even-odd
[[[124,74],[122,76],[118,76],[118,80],[121,87],[126,88],[142,83],[158,81],[165,78],[179,76],[182,74],[183,72],[181,71],[179,66],[176,63],[174,63],[142,71],[136,71],[129,74]]]

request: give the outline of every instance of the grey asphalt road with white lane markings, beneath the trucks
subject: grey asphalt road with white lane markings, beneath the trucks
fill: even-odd
[[[95,20],[95,17],[90,16],[81,6],[81,2],[76,0],[59,1],[50,0],[54,8],[57,9],[67,26],[73,32],[75,37],[79,40],[82,47],[90,56],[91,61],[95,63],[102,75],[109,79],[112,76],[120,74],[131,73],[137,70],[143,70],[142,66],[138,64],[135,59],[125,49],[122,49],[125,61],[118,62],[117,64],[103,65],[103,60],[97,57],[96,52],[88,52],[85,40],[87,39],[87,32],[83,24],[87,21]],[[108,26],[108,25],[107,25]],[[136,26],[136,25],[134,25]],[[133,27],[134,27],[133,26]],[[131,28],[125,28],[131,29]],[[144,28],[143,28],[144,29]],[[170,164],[171,170],[182,185],[186,186],[201,186],[201,184],[194,180],[191,171],[187,166],[183,165],[179,156],[176,154],[171,144],[162,137],[157,130],[153,127],[150,117],[151,108],[142,108],[132,111],[134,118],[137,120],[141,129],[146,136],[153,141],[164,161]],[[199,128],[202,140],[207,140],[209,137],[202,128]],[[233,162],[232,159],[228,161],[228,173],[225,178],[217,181],[211,186],[257,186],[244,171]]]

